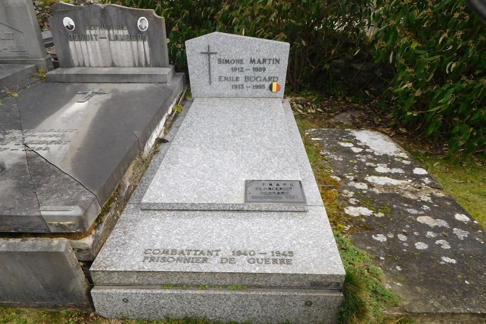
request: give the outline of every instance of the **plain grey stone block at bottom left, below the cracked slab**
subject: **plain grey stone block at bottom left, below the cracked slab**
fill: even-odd
[[[89,308],[67,239],[0,239],[0,306]]]

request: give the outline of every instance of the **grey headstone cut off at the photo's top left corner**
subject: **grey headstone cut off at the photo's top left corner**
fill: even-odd
[[[0,64],[52,69],[31,0],[0,0]]]

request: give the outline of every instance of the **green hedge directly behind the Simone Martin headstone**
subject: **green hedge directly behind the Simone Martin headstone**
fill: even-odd
[[[291,44],[287,81],[293,90],[324,85],[330,62],[356,51],[369,0],[111,0],[155,9],[166,18],[170,57],[187,71],[184,42],[211,32],[243,34]]]

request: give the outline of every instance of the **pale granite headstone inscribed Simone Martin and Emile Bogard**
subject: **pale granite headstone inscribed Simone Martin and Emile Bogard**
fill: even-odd
[[[190,39],[192,96],[283,98],[289,48],[289,43],[217,32]]]

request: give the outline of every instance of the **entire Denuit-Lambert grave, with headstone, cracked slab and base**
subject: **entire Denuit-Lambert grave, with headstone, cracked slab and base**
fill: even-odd
[[[144,57],[151,62],[156,57],[165,58],[157,65],[167,67],[147,67],[155,69],[155,78],[144,77],[144,68],[135,63],[108,68],[105,74],[117,83],[100,83],[106,80],[105,67],[93,67],[81,75],[65,68],[60,74],[54,73],[58,77],[53,79],[62,81],[59,75],[65,75],[67,83],[39,82],[17,96],[2,99],[0,259],[16,255],[7,265],[10,271],[23,268],[32,259],[36,272],[18,271],[15,280],[1,276],[0,287],[6,290],[0,288],[0,305],[65,307],[61,302],[64,299],[72,307],[89,306],[87,280],[80,264],[66,261],[57,272],[49,264],[60,262],[59,254],[66,260],[74,256],[80,261],[94,259],[118,218],[121,210],[117,208],[122,208],[131,193],[125,173],[132,172],[129,167],[139,154],[150,150],[185,85],[184,74],[174,73],[174,67],[168,64],[166,39],[160,37],[165,35],[163,18],[156,17],[153,10],[132,12],[112,5],[52,7],[54,19],[58,11],[69,11],[73,20],[66,19],[62,28],[76,32],[93,21],[104,21],[106,12],[122,26],[130,25],[132,17],[142,13],[151,24],[145,31],[151,27],[158,30],[146,34],[145,42],[154,51],[145,52]],[[141,29],[144,26],[140,23]],[[64,48],[69,43],[60,42],[56,33],[52,31],[58,57],[65,62],[73,53]],[[76,59],[89,60],[91,54],[78,52]],[[19,235],[28,238],[8,239]],[[46,243],[43,237],[52,239]],[[59,248],[61,237],[69,239],[69,248]],[[60,279],[70,276],[72,282]],[[36,281],[38,277],[43,279]],[[34,282],[35,293],[23,296],[24,290],[17,289]]]

